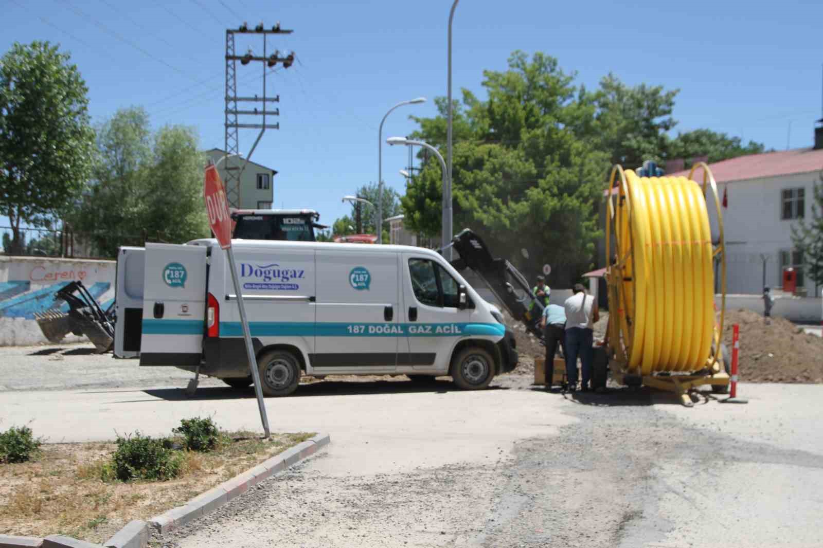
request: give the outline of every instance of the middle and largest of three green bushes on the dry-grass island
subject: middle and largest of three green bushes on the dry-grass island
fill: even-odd
[[[168,439],[155,439],[135,432],[118,436],[114,452],[114,474],[120,481],[170,480],[179,476],[184,455],[171,449]]]

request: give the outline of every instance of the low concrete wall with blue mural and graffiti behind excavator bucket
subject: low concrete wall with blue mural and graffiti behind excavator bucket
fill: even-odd
[[[0,346],[47,342],[35,313],[66,312],[54,293],[70,281],[82,281],[103,308],[114,300],[114,261],[0,256]],[[68,335],[66,341],[80,341]]]

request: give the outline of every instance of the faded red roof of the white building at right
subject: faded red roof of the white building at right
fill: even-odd
[[[738,156],[731,160],[709,164],[709,169],[712,170],[714,180],[718,183],[809,173],[823,170],[823,148],[816,151],[811,148],[797,148],[793,151],[764,152],[763,154]],[[667,173],[666,176],[688,177],[689,171]],[[703,170],[695,170],[695,180],[698,183],[703,182]],[[616,188],[612,188],[611,193],[614,194],[615,192]]]

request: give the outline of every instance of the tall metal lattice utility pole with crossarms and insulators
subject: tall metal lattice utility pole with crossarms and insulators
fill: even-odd
[[[281,56],[280,52],[275,50],[272,55],[267,55],[267,37],[268,35],[291,35],[293,30],[286,30],[280,28],[280,23],[267,29],[260,23],[258,26],[250,29],[246,23],[243,23],[239,29],[226,29],[226,160],[233,157],[233,163],[226,161],[226,198],[229,201],[229,207],[240,207],[240,178],[246,165],[249,164],[249,159],[257,148],[260,138],[267,129],[280,129],[279,123],[266,123],[267,116],[279,116],[280,109],[268,109],[268,104],[279,103],[280,95],[268,96],[266,93],[267,70],[277,66],[277,63],[282,63],[283,68],[291,67],[295,62],[295,53],[291,52],[285,57]],[[263,37],[263,56],[258,57],[249,49],[248,53],[244,55],[237,55],[235,52],[235,35],[259,35]],[[237,62],[241,65],[248,65],[252,61],[258,61],[263,64],[263,96],[254,94],[253,96],[239,97],[237,95]],[[239,109],[239,102],[251,102],[261,104],[260,108],[255,105],[249,109]],[[260,123],[240,122],[239,116],[261,116]],[[243,159],[239,155],[239,130],[240,129],[259,129],[257,139],[249,150],[249,154]],[[274,181],[272,181],[272,194],[274,188]]]

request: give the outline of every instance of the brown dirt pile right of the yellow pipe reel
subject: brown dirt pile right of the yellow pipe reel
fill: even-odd
[[[823,383],[823,338],[785,318],[728,310],[723,342],[732,349],[732,324],[740,326],[740,380],[748,383]]]

